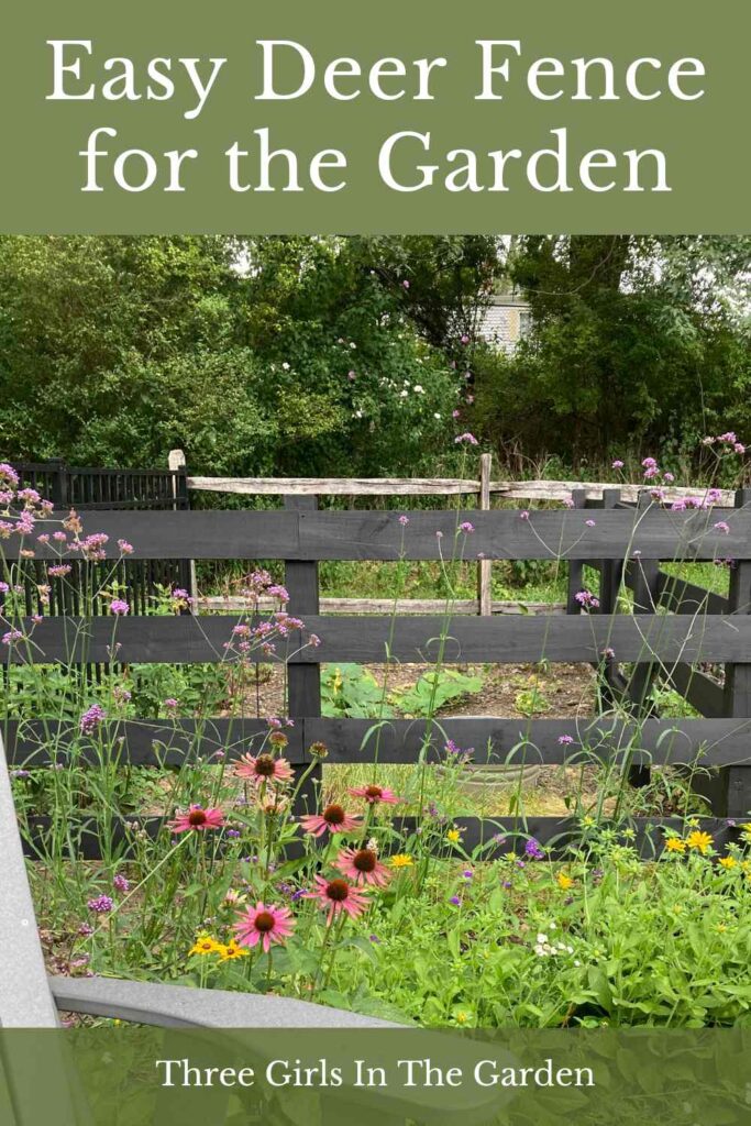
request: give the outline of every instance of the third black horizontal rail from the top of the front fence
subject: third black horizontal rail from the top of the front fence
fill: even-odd
[[[66,761],[77,736],[72,721],[11,721],[5,732],[8,760],[16,767]],[[122,765],[179,766],[188,756],[211,762],[216,752],[233,761],[250,741],[267,731],[262,720],[212,718],[108,721],[110,760]],[[654,765],[724,766],[751,763],[750,720],[644,720],[614,716],[579,720],[502,720],[492,716],[446,716],[439,720],[390,720],[373,734],[372,720],[312,716],[287,729],[285,758],[311,762],[310,747],[322,742],[327,762],[415,763],[446,760],[453,740],[477,766],[576,766],[626,760]],[[82,762],[99,761],[99,750],[84,749]],[[216,760],[216,759],[214,759]]]

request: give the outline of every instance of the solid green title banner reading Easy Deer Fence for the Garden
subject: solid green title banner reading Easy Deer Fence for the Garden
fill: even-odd
[[[737,0],[8,9],[9,233],[749,230]]]

